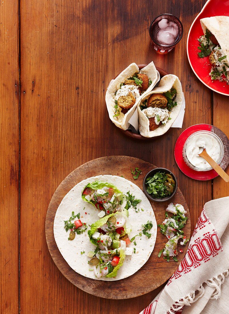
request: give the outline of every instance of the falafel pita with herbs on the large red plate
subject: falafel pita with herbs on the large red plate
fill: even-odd
[[[209,76],[229,84],[229,17],[213,16],[200,20],[204,35],[198,38],[198,56],[208,57],[211,64]]]

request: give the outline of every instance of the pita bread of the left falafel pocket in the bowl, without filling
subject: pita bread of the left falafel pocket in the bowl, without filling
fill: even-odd
[[[154,83],[157,79],[157,70],[155,68],[154,62],[150,62],[145,68],[140,70],[140,73],[146,74],[148,78],[151,79],[152,84],[148,87],[148,89],[136,100],[135,105],[124,115],[122,112],[120,112],[120,115],[118,117],[114,117],[114,93],[117,90],[117,85],[119,85],[122,81],[125,79],[131,77],[134,75],[134,73],[139,72],[139,68],[136,63],[131,63],[122,73],[120,73],[114,81],[110,84],[110,86],[107,89],[106,92],[106,104],[107,104],[107,110],[109,113],[109,117],[111,121],[117,126],[120,127],[123,130],[126,130],[129,127],[129,120],[131,116],[134,114],[134,111],[136,110],[137,101],[141,99],[144,95],[146,95],[148,92],[150,92],[153,87]]]

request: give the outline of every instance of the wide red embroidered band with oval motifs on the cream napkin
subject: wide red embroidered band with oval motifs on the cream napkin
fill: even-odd
[[[192,268],[206,263],[209,261],[210,257],[216,256],[219,251],[222,251],[222,245],[215,230],[213,230],[212,233],[205,233],[202,239],[197,238],[194,243],[190,244],[188,247],[184,259],[170,278],[168,284],[170,284],[173,279],[181,277],[182,273],[189,273]]]

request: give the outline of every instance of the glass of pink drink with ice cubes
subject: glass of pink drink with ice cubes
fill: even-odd
[[[150,24],[149,35],[151,45],[158,52],[169,52],[181,40],[183,25],[172,14],[161,14]]]

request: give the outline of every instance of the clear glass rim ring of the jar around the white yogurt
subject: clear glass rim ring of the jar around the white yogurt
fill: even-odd
[[[213,138],[215,138],[215,139],[218,141],[218,143],[219,143],[220,146],[221,146],[221,155],[219,156],[219,159],[216,160],[216,163],[217,163],[218,165],[220,165],[221,161],[223,160],[223,157],[224,157],[224,145],[223,145],[223,142],[222,142],[221,138],[220,138],[217,134],[215,134],[215,133],[213,133],[213,132],[211,132],[211,131],[208,131],[208,130],[199,130],[199,131],[196,131],[196,132],[194,132],[193,134],[189,135],[189,137],[186,139],[186,141],[185,141],[185,143],[184,143],[183,152],[182,152],[182,153],[183,153],[184,162],[185,162],[191,169],[193,169],[193,170],[195,170],[195,171],[209,171],[209,170],[212,170],[213,168],[212,168],[211,166],[210,166],[210,167],[206,167],[206,168],[198,168],[198,167],[192,165],[191,162],[187,159],[187,156],[186,156],[187,142],[188,142],[188,140],[190,140],[190,138],[192,138],[192,137],[193,137],[194,135],[196,135],[197,133],[209,133]]]

